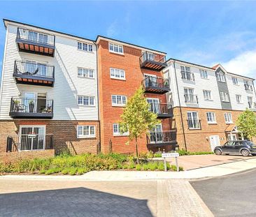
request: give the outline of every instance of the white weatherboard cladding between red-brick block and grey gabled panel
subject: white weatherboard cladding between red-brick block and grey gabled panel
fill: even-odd
[[[187,81],[181,78],[180,66],[190,66],[190,72],[194,73],[194,81]],[[169,76],[171,77],[171,91],[173,95],[173,107],[179,106],[178,103],[178,92],[180,95],[180,106],[182,107],[200,107],[200,108],[209,108],[209,109],[221,109],[220,104],[220,94],[218,90],[218,84],[215,77],[215,71],[211,69],[205,69],[208,72],[208,79],[201,78],[199,67],[187,65],[186,63],[175,62],[176,75],[174,70],[173,62],[169,63],[168,68]],[[165,70],[165,71],[166,71]],[[164,75],[166,76],[166,74]],[[176,87],[176,77],[178,82],[178,91]],[[184,88],[194,89],[194,94],[197,95],[199,104],[194,105],[190,103],[185,103],[184,97]],[[204,100],[204,90],[211,91],[212,100]]]

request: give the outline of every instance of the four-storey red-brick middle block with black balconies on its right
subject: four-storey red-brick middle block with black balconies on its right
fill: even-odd
[[[171,91],[168,79],[162,77],[166,53],[132,45],[113,38],[98,36],[99,113],[101,120],[101,150],[121,153],[135,151],[128,134],[120,134],[121,120],[127,99],[141,85],[150,110],[157,114],[161,124],[138,141],[138,151],[171,150],[176,146],[176,133],[171,127],[172,108],[166,103]],[[175,129],[174,129],[175,131]]]

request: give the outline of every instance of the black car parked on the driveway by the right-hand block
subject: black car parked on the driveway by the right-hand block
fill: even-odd
[[[214,153],[217,155],[242,154],[242,156],[249,156],[251,154],[256,156],[256,145],[250,140],[229,141],[222,146],[215,147]]]

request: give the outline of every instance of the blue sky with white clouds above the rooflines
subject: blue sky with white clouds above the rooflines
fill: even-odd
[[[108,36],[254,78],[255,13],[256,1],[0,1],[1,19]],[[0,72],[5,34],[0,22]]]

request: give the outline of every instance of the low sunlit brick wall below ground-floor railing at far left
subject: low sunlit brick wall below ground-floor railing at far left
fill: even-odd
[[[9,163],[17,160],[34,159],[34,158],[50,158],[55,156],[54,149],[39,151],[15,151],[8,153],[0,153],[0,162]]]

